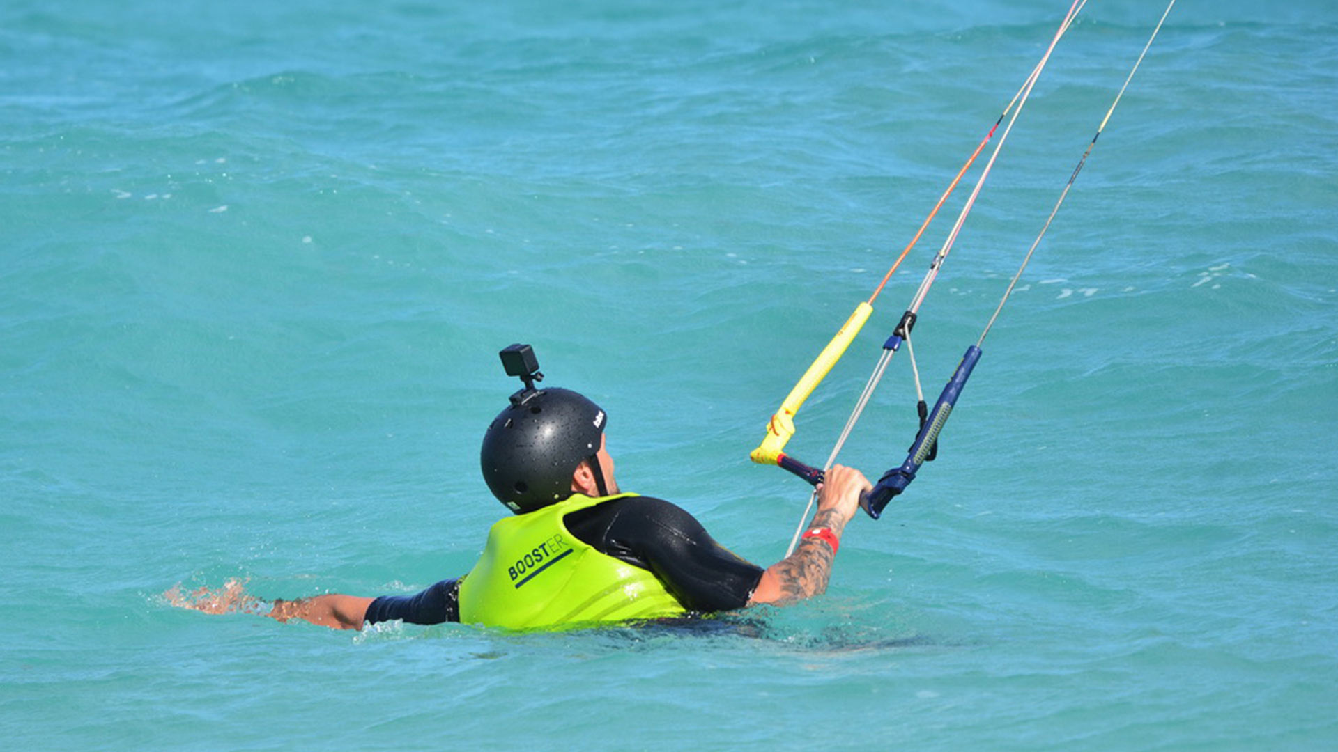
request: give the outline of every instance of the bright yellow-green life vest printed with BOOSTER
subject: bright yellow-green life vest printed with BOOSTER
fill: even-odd
[[[573,494],[499,519],[483,555],[460,581],[460,621],[537,629],[686,613],[653,573],[597,551],[562,522],[574,511],[633,495]]]

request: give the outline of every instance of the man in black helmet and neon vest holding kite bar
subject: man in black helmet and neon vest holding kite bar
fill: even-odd
[[[488,488],[515,516],[492,526],[467,575],[380,598],[265,603],[237,585],[169,598],[207,613],[244,610],[334,629],[393,620],[543,629],[785,605],[827,589],[846,523],[871,487],[858,470],[831,468],[795,553],[763,570],[682,508],[621,492],[605,412],[569,389],[535,389],[543,375],[529,345],[511,345],[502,359],[524,388],[488,427],[480,460]]]

